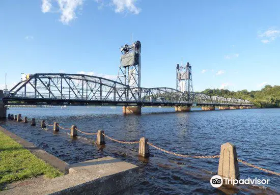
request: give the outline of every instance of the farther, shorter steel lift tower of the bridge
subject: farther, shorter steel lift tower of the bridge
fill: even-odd
[[[191,79],[191,66],[189,63],[186,66],[180,66],[177,64],[176,67],[176,89],[178,91],[187,93],[188,101],[193,100],[193,88]]]

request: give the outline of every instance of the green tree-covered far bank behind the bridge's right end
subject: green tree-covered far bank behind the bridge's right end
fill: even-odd
[[[257,107],[280,107],[280,86],[270,86],[266,85],[263,89],[259,91],[229,91],[229,90],[219,90],[219,89],[206,89],[202,91],[209,96],[223,96],[223,97],[234,97],[236,99],[250,100]]]

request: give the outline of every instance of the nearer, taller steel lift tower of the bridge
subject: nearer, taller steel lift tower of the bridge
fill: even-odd
[[[121,62],[117,81],[129,85],[136,98],[141,97],[141,43],[136,41],[121,48]],[[126,98],[129,99],[128,94]]]

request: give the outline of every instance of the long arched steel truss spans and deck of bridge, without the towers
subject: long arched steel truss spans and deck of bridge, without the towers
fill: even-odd
[[[28,75],[4,94],[5,104],[138,105],[138,106],[253,106],[248,100],[193,93],[172,88],[135,88],[84,74]]]

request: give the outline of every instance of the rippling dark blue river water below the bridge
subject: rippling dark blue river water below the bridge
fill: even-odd
[[[174,108],[143,107],[142,115],[122,114],[122,107],[73,106],[10,108],[7,113],[36,118],[37,126],[1,121],[0,125],[68,163],[112,156],[139,166],[134,194],[277,194],[280,177],[239,163],[240,179],[269,179],[268,185],[239,185],[214,188],[210,178],[217,173],[218,159],[181,158],[150,147],[151,156],[138,157],[138,145],[106,140],[104,147],[93,144],[95,135],[68,131],[53,133],[41,129],[40,120],[86,132],[104,130],[117,140],[134,141],[145,136],[165,150],[190,155],[219,155],[226,142],[236,145],[238,158],[280,173],[280,109],[237,109],[174,113]]]

